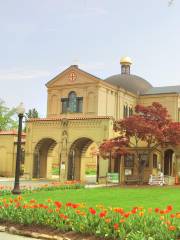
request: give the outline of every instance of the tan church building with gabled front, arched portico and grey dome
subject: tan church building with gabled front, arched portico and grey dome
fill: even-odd
[[[99,181],[109,171],[119,172],[121,182],[125,175],[137,174],[136,159],[103,160],[98,146],[114,136],[113,122],[132,115],[138,103],[160,102],[179,122],[180,86],[153,87],[131,74],[130,58],[122,58],[120,64],[121,73],[104,80],[72,65],[46,84],[47,117],[27,123],[25,176],[51,178],[52,163],[56,162],[61,180],[84,181],[86,166],[91,161],[98,169]],[[144,152],[142,146],[146,158]],[[145,180],[158,168],[168,176],[180,175],[180,148],[152,153],[146,164]]]

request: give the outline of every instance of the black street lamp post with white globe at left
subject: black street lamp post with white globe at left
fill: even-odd
[[[15,172],[15,181],[14,181],[14,189],[12,190],[13,194],[20,194],[21,190],[19,187],[19,177],[20,177],[20,165],[21,165],[21,137],[22,137],[22,119],[25,113],[25,108],[23,103],[16,108],[16,113],[19,117],[19,125],[18,125],[18,140],[17,140],[17,153],[16,153],[16,172]]]

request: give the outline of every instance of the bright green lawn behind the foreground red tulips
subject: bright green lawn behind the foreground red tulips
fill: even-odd
[[[103,204],[104,206],[123,207],[134,206],[146,208],[165,208],[173,205],[174,210],[180,212],[180,187],[128,187],[128,188],[94,188],[78,190],[41,191],[24,194],[27,200],[36,199],[38,202],[51,198],[62,202],[81,203],[88,206]]]

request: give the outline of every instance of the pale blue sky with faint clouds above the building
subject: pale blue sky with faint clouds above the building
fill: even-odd
[[[169,4],[172,2],[172,4]],[[180,0],[0,0],[0,98],[46,115],[45,83],[72,64],[105,79],[120,58],[180,85]]]

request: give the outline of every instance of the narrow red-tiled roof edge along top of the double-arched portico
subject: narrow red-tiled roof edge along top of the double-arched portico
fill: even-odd
[[[68,119],[68,120],[88,120],[88,119],[113,119],[113,117],[110,117],[110,116],[96,116],[96,117],[83,116],[83,117],[31,118],[31,119],[28,120],[28,122],[60,121],[60,120],[63,120],[63,119]]]

